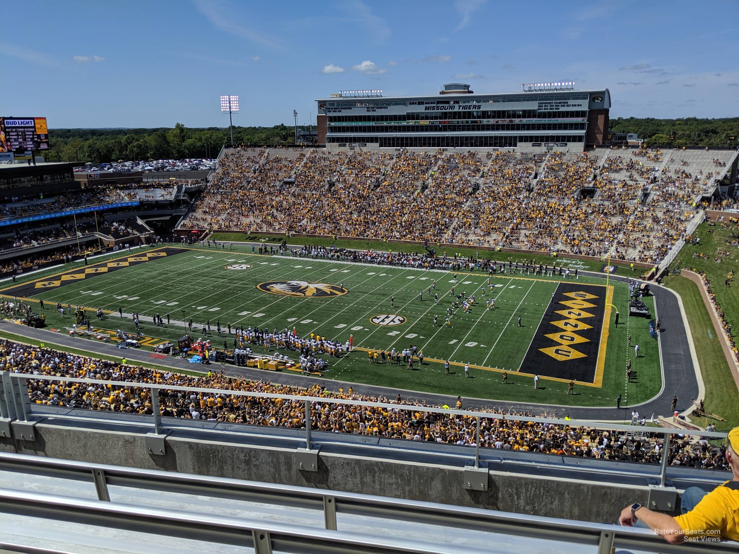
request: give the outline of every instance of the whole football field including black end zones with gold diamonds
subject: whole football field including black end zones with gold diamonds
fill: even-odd
[[[468,310],[457,298],[460,293],[474,295]],[[611,281],[605,287],[603,278],[519,272],[491,276],[488,283],[487,273],[458,272],[455,279],[453,272],[259,255],[246,247],[136,249],[18,284],[3,295],[43,299],[47,322],[58,329],[73,321],[54,311],[56,302],[65,309],[102,308],[103,320],[94,311],[88,315],[97,329],[108,332],[132,332],[131,313],[137,312],[147,337],[144,347],[179,338],[189,332],[190,320],[194,338],[202,336],[202,324],[209,324],[206,334],[218,348],[233,347],[229,324],[232,332],[234,326],[259,326],[341,343],[351,337],[353,352],[330,358],[324,379],[572,405],[610,403],[609,397],[619,394],[629,355],[627,333],[638,341],[647,326],[646,320],[625,317],[626,285]],[[494,307],[488,308],[493,298]],[[618,328],[612,307],[623,318]],[[154,325],[156,314],[164,326]],[[658,347],[648,336],[641,340],[641,352],[650,358],[640,375],[639,394],[646,396],[659,389]],[[425,358],[414,371],[369,362],[369,350],[410,346]],[[452,375],[444,373],[446,360]],[[635,362],[639,370],[641,358]],[[463,378],[465,364],[472,379]],[[509,386],[501,383],[503,371]],[[536,392],[534,374],[540,377]],[[265,378],[279,380],[271,373]],[[576,382],[576,394],[563,397],[570,380]]]

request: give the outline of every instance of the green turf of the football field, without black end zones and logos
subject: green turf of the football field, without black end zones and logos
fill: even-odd
[[[250,269],[227,270],[226,265],[251,264]],[[333,298],[295,298],[262,293],[255,285],[262,281],[302,280],[344,284],[350,292]],[[418,300],[420,290],[426,290],[437,281],[440,303],[425,298]],[[139,312],[143,332],[162,339],[179,338],[184,326],[155,327],[151,316],[159,312],[172,320],[193,318],[194,335],[200,335],[200,323],[210,320],[209,338],[222,346],[215,326],[220,321],[223,334],[226,324],[267,326],[292,329],[302,336],[311,332],[336,338],[342,342],[353,335],[354,345],[372,349],[406,347],[410,343],[423,349],[426,358],[456,360],[460,363],[515,370],[520,366],[531,338],[542,319],[556,278],[515,278],[494,276],[491,283],[496,300],[495,310],[485,310],[483,302],[469,314],[457,310],[452,317],[453,329],[433,326],[433,315],[443,323],[452,287],[452,274],[426,272],[401,267],[369,266],[333,261],[298,259],[287,256],[259,256],[251,254],[251,247],[234,250],[194,249],[166,258],[115,270],[52,290],[39,290],[33,298],[44,298],[47,303],[47,323],[61,328],[70,326],[69,316],[61,320],[52,309],[52,302],[85,307],[103,307],[115,314],[104,321],[93,317],[93,324],[103,329],[134,328],[129,317],[118,317],[118,307],[124,313]],[[487,282],[482,273],[458,276],[455,290],[468,295]],[[580,276],[580,282],[604,284],[602,278]],[[423,369],[409,371],[390,365],[369,363],[367,354],[355,351],[352,355],[331,360],[326,378],[355,383],[393,386],[412,391],[461,394],[467,397],[485,397],[500,400],[556,403],[571,406],[610,406],[617,394],[626,392],[624,368],[627,355],[627,335],[640,343],[643,357],[635,363],[638,383],[630,385],[628,403],[638,403],[656,394],[661,386],[658,347],[649,336],[648,321],[626,318],[627,287],[615,284],[613,303],[619,308],[621,325],[610,326],[606,371],[602,388],[576,386],[576,394],[565,394],[567,383],[543,379],[534,391],[530,377],[509,376],[509,384],[500,384],[500,373],[474,369],[474,379],[463,378],[462,368],[454,366],[453,375],[444,375],[443,366],[429,363]],[[480,291],[475,293],[483,299]],[[390,298],[395,297],[395,308]],[[651,304],[651,298],[647,298]],[[51,308],[51,309],[48,309]],[[184,314],[183,311],[184,310]],[[370,318],[379,314],[398,314],[406,318],[400,326],[378,326]],[[517,315],[522,316],[523,327],[517,326]],[[93,314],[94,316],[94,314]],[[627,325],[624,324],[628,321]],[[83,339],[81,339],[83,340]],[[233,344],[233,335],[226,339]],[[294,352],[291,353],[294,356]]]

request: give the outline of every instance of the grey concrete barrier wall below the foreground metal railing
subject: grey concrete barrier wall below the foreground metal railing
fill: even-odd
[[[187,437],[168,437],[166,455],[153,456],[144,445],[148,428],[119,431],[109,427],[92,430],[38,423],[33,442],[0,438],[0,451],[581,521],[615,521],[624,506],[647,504],[649,496],[647,486],[552,478],[545,476],[545,471],[541,476],[525,476],[495,468],[488,471],[488,490],[466,490],[462,467],[324,451],[319,455],[319,471],[301,471],[293,448]]]

